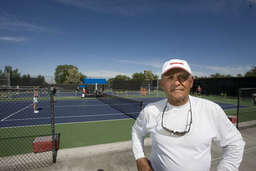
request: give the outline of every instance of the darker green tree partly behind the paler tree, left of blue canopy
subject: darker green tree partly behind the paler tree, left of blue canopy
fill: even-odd
[[[75,69],[75,70],[71,70],[69,72],[70,69]],[[60,65],[57,66],[57,68],[55,69],[55,73],[54,73],[54,80],[56,83],[65,83],[66,82],[66,76],[69,76],[70,73],[72,73],[72,71],[76,71],[78,72],[78,68],[74,67],[73,65]],[[76,73],[77,74],[77,73]],[[86,75],[81,74],[81,72],[79,72],[79,80],[82,81],[83,78],[86,78]],[[69,82],[69,81],[68,81]]]

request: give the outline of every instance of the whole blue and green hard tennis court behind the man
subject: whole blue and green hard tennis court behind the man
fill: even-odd
[[[15,163],[16,159],[12,156],[24,154],[30,154],[32,158],[39,156],[33,154],[33,141],[37,137],[51,135],[52,131],[51,104],[53,102],[51,103],[47,92],[46,90],[40,93],[41,97],[36,105],[39,113],[33,113],[33,93],[31,92],[11,93],[5,99],[1,99],[0,138],[4,153],[0,157],[7,157],[7,161],[12,159]],[[55,135],[59,137],[58,147],[64,149],[131,140],[132,126],[135,122],[133,118],[139,115],[140,102],[143,101],[144,108],[147,104],[164,98],[166,97],[137,96],[135,98],[132,96],[134,100],[131,100],[131,98],[111,98],[101,94],[99,99],[94,97],[58,99],[54,103]],[[215,99],[215,101],[226,114],[236,114],[236,100]],[[241,107],[253,108],[251,105]],[[136,110],[133,110],[135,108]],[[123,110],[126,114],[120,112]],[[52,152],[40,155],[44,155],[45,166],[51,165]]]

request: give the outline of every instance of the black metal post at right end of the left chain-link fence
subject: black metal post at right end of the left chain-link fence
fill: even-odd
[[[53,163],[56,163],[56,148],[55,148],[55,127],[54,127],[54,88],[51,87],[51,117],[52,117],[52,157]]]

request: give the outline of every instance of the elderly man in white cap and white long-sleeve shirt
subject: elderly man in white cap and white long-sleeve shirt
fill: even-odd
[[[223,151],[217,170],[238,170],[245,142],[218,104],[189,95],[194,77],[187,62],[165,62],[161,76],[167,99],[148,104],[132,129],[138,170],[210,170],[212,140]],[[150,161],[144,156],[147,134]]]

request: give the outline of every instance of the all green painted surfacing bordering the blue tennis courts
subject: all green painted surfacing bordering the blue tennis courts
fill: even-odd
[[[141,96],[138,96],[141,98]],[[145,96],[147,97],[147,96]],[[81,97],[77,97],[79,99]],[[134,96],[132,98],[135,98]],[[201,96],[214,102],[222,102],[228,104],[237,104],[238,100],[236,98],[221,98],[214,96]],[[58,99],[59,100],[59,99]],[[251,102],[248,102],[248,105],[251,105]],[[255,114],[255,108],[249,109],[251,111],[246,111],[245,115],[248,115],[246,119],[251,119],[251,114]],[[225,110],[226,115],[237,115],[237,109]],[[255,119],[255,118],[254,118]],[[80,122],[80,123],[63,123],[55,124],[55,134],[59,135],[59,149],[63,148],[74,148],[82,147],[96,144],[105,144],[112,142],[120,142],[131,140],[132,126],[135,123],[135,119],[123,119],[123,120],[110,120],[110,121],[95,121],[95,122]],[[38,126],[39,127],[39,126]],[[20,137],[23,133],[29,132],[29,129],[32,129],[31,126],[25,127],[15,127],[9,129],[19,129]],[[41,129],[41,128],[40,128]],[[0,134],[2,129],[0,129]],[[25,134],[26,135],[26,134]],[[15,137],[6,137],[13,138],[12,141],[9,141],[10,144],[4,145],[6,148],[6,154],[1,156],[17,155],[17,154],[8,154],[8,147],[14,145],[15,143],[20,143],[20,139],[16,140]],[[24,137],[29,139],[28,142],[33,142],[35,137],[33,135],[29,137]],[[21,140],[23,141],[23,140]],[[1,142],[0,142],[1,143]],[[11,145],[12,144],[12,145]],[[20,154],[32,153],[33,146],[30,144],[29,148],[20,149]]]

